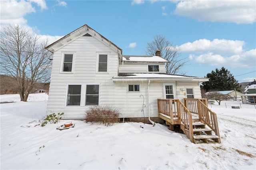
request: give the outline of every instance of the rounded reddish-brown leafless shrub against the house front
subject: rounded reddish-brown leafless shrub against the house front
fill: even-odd
[[[86,122],[102,122],[108,126],[118,122],[119,111],[110,106],[95,106],[86,111]]]

